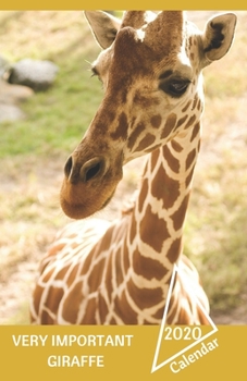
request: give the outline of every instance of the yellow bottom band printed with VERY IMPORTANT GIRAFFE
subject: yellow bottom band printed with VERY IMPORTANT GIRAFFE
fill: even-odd
[[[52,336],[60,335],[128,335],[133,336],[131,345],[124,346],[52,346]],[[246,349],[240,343],[247,339],[247,327],[219,327],[219,331],[205,345],[217,340],[218,346],[207,355],[189,362],[193,353],[201,348],[201,344],[180,357],[173,369],[178,370],[178,361],[183,360],[183,369],[174,373],[171,362],[151,373],[151,366],[157,345],[159,327],[0,327],[1,336],[1,373],[4,380],[145,380],[145,381],[180,381],[180,380],[246,380]],[[15,345],[22,335],[24,345]],[[33,335],[33,336],[32,336]],[[42,346],[41,341],[36,346],[32,343],[34,336],[47,336]],[[81,344],[83,340],[81,340]],[[190,355],[190,357],[189,357]],[[50,367],[50,356],[102,356],[103,367],[95,364],[89,367]],[[165,352],[164,352],[165,356]],[[60,357],[61,358],[61,357]],[[88,359],[88,358],[87,358]],[[163,358],[164,359],[164,358]],[[54,357],[52,357],[52,361]],[[50,362],[51,364],[51,362]],[[54,364],[54,362],[52,362]],[[181,362],[182,364],[182,362]]]

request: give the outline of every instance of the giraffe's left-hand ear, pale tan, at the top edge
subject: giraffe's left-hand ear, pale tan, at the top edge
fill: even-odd
[[[84,14],[100,47],[109,48],[115,39],[121,21],[102,11],[85,11]]]

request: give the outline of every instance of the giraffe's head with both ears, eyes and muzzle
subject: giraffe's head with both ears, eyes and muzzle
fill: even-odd
[[[86,19],[102,51],[92,63],[104,96],[67,159],[61,206],[71,218],[103,208],[129,160],[165,145],[198,123],[201,71],[230,49],[236,16],[218,15],[200,32],[183,12],[104,12]]]

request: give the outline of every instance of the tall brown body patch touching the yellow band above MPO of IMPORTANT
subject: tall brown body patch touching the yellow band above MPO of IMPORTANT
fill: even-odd
[[[81,281],[69,290],[67,297],[63,303],[63,319],[69,321],[71,324],[76,324],[77,314],[79,311],[79,305],[83,298],[83,282]]]

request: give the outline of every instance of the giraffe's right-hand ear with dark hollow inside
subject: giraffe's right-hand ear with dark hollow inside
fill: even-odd
[[[206,64],[224,57],[233,41],[236,26],[236,15],[225,13],[210,19],[202,34]]]

